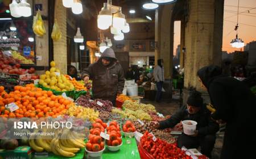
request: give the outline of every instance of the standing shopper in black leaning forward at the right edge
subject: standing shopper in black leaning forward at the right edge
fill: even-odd
[[[256,158],[256,98],[249,87],[235,78],[222,76],[221,68],[214,65],[201,68],[197,76],[216,108],[212,118],[218,123],[226,122],[221,158]]]

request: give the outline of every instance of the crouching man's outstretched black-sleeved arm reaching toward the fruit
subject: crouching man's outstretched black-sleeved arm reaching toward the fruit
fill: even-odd
[[[164,121],[159,122],[159,129],[165,129],[165,128],[173,128],[176,124],[182,120],[184,117],[184,111],[187,109],[187,106],[181,107],[177,112],[175,112],[174,115],[171,116],[171,118],[168,118]]]

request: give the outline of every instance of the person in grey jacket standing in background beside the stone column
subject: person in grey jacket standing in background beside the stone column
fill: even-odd
[[[155,66],[154,69],[154,78],[156,82],[156,88],[158,89],[156,92],[156,102],[160,102],[162,99],[162,88],[163,88],[163,82],[164,82],[164,67],[163,67],[163,59],[158,60],[158,65]]]

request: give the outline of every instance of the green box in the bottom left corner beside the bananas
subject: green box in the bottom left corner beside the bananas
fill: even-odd
[[[32,150],[30,147],[22,146],[14,150],[0,150],[0,158],[4,159],[31,159]]]

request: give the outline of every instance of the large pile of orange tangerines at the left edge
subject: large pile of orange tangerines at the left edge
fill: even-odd
[[[53,95],[52,91],[45,91],[35,87],[34,84],[15,86],[14,91],[6,93],[0,87],[0,117],[6,118],[41,118],[52,116],[56,118],[67,112],[71,101],[62,96]],[[15,103],[19,109],[10,112],[5,105]]]

